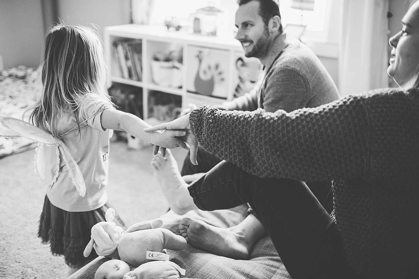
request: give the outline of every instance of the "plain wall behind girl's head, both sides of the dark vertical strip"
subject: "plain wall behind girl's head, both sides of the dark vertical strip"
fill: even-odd
[[[65,24],[94,23],[101,34],[105,26],[130,23],[130,0],[0,0],[0,56],[5,69],[39,65],[43,13],[52,3],[57,4],[57,14]]]

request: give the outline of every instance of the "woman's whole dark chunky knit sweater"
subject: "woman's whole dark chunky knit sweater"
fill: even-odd
[[[333,180],[336,227],[362,276],[419,274],[419,90],[373,90],[291,113],[203,106],[189,119],[199,144],[251,174]]]

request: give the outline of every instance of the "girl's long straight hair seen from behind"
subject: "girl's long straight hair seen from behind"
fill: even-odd
[[[102,42],[92,28],[63,24],[50,28],[41,65],[43,89],[29,108],[34,109],[29,118],[53,136],[60,138],[57,128],[63,115],[73,113],[80,125],[78,106],[83,95],[93,92],[111,103],[105,86]]]

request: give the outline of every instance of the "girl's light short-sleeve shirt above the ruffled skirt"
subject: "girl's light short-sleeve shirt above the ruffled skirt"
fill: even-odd
[[[60,154],[59,175],[47,188],[47,196],[56,207],[70,212],[90,211],[102,207],[108,200],[106,185],[111,130],[103,129],[101,124],[101,114],[105,109],[114,108],[96,94],[85,95],[79,101],[80,133],[73,114],[62,117],[58,132],[63,135],[61,140],[83,174],[86,194],[84,197],[79,195]]]

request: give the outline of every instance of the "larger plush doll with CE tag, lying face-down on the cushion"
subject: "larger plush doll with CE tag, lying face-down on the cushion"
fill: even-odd
[[[147,261],[168,261],[164,249],[180,251],[186,247],[186,239],[160,228],[161,219],[137,223],[125,232],[112,220],[115,211],[106,211],[106,222],[99,222],[92,228],[91,240],[84,250],[84,256],[90,255],[92,248],[99,256],[106,256],[138,267]]]

